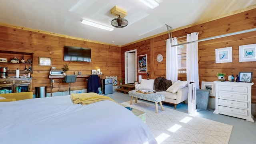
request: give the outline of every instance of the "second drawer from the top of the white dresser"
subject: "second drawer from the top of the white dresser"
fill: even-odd
[[[218,98],[224,98],[228,100],[248,100],[248,94],[239,94],[233,92],[226,92],[226,91],[218,91]]]

